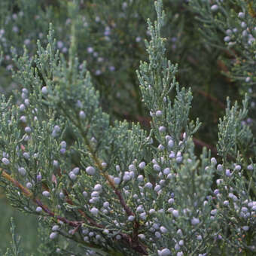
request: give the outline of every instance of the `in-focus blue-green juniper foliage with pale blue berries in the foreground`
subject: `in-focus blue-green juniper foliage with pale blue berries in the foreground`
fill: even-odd
[[[72,15],[78,5],[70,4]],[[255,144],[242,109],[227,101],[218,157],[194,151],[190,89],[178,84],[161,37],[165,13],[148,20],[148,61],[136,72],[151,115],[112,121],[87,64],[77,57],[77,26],[67,59],[53,27],[37,54],[13,50],[17,102],[1,100],[1,184],[13,206],[38,215],[42,254],[206,255],[256,251]],[[209,8],[209,11],[217,11]],[[207,9],[208,10],[208,9]]]

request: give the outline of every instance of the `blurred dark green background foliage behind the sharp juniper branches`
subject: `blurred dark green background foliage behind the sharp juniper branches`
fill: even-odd
[[[248,38],[245,42],[242,35],[236,35],[241,40],[234,46],[224,40],[229,34],[228,26],[241,27],[236,11],[244,11],[248,27],[254,26],[255,2],[227,1],[221,4],[226,13],[218,14],[211,10],[210,4],[215,2],[218,3],[163,0],[167,58],[178,63],[179,84],[192,88],[191,118],[199,117],[203,123],[195,136],[197,152],[208,145],[213,154],[212,145],[218,139],[218,118],[224,114],[226,97],[240,101],[248,90],[252,98],[255,97],[252,85],[256,81],[255,59],[249,57],[255,55],[251,54],[255,52],[255,42],[247,45]],[[23,87],[11,77],[11,70],[16,69],[12,54],[22,55],[24,45],[30,56],[35,54],[38,39],[43,45],[47,43],[49,23],[53,23],[56,47],[67,56],[72,23],[76,20],[78,58],[80,62],[87,61],[103,109],[113,120],[139,121],[148,129],[150,118],[141,101],[136,69],[139,62],[147,58],[144,40],[148,38],[147,19],[155,19],[153,4],[153,0],[0,1],[0,92],[15,95],[15,91]],[[254,112],[253,100],[250,111]],[[26,251],[35,250],[36,218],[24,218],[8,205],[3,195],[0,212],[1,233],[8,233],[9,219],[13,215]],[[9,239],[9,235],[2,236],[0,248],[5,250]]]

